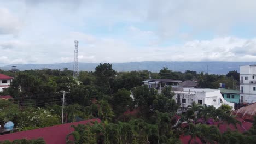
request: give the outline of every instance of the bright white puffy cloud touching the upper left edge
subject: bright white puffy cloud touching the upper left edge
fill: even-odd
[[[1,34],[17,34],[22,26],[18,17],[15,17],[6,8],[0,8],[0,35]]]

